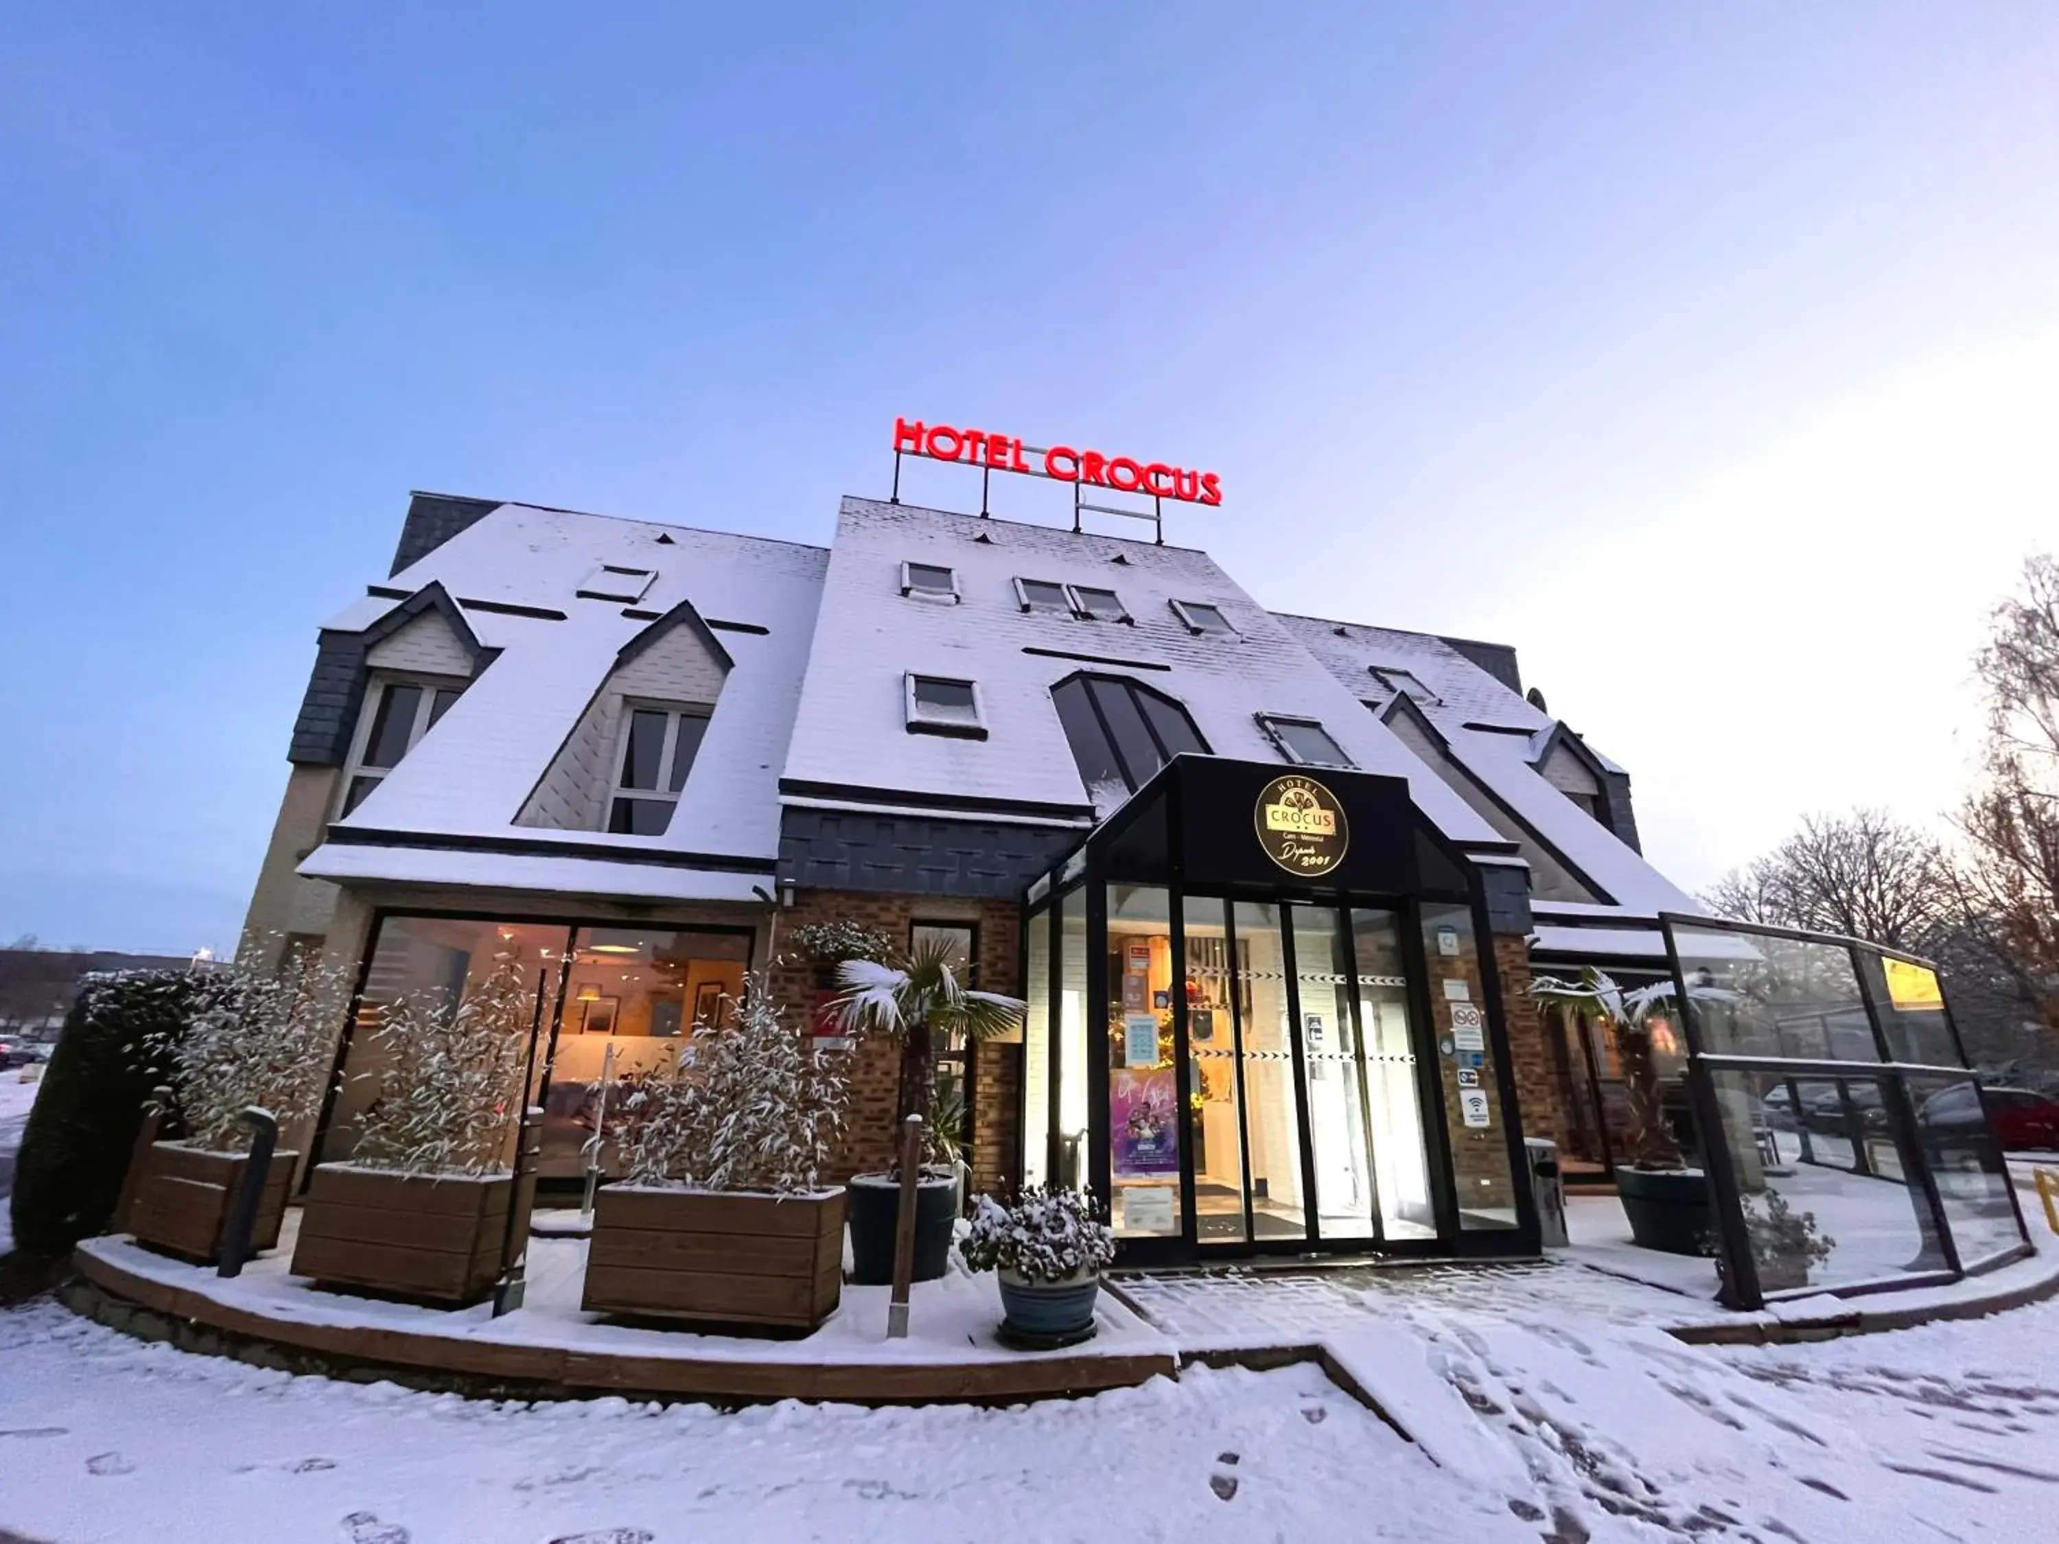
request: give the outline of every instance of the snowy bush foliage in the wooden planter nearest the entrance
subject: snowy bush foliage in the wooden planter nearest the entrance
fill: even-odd
[[[795,1033],[754,984],[729,1023],[696,1023],[679,1060],[622,1101],[616,1138],[630,1184],[819,1190],[844,1130],[846,1066],[844,1052]]]

